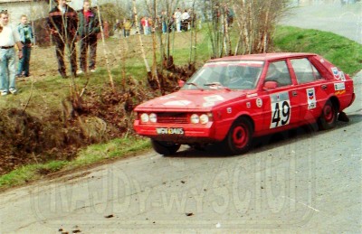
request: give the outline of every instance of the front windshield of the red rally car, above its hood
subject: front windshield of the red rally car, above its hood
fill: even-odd
[[[208,62],[182,89],[255,89],[263,65],[263,61]]]

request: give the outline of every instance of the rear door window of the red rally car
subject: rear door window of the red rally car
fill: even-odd
[[[291,65],[300,84],[321,79],[319,71],[307,58],[291,60]]]

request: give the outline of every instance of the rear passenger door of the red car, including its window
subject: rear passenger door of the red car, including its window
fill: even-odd
[[[291,66],[298,82],[301,120],[313,122],[328,97],[325,80],[308,58],[291,59]]]

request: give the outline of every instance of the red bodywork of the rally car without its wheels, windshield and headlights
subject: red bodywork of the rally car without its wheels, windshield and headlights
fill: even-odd
[[[348,108],[355,98],[353,80],[317,54],[252,54],[220,58],[206,64],[227,66],[228,62],[235,61],[261,62],[260,77],[253,89],[181,89],[149,100],[134,109],[138,115],[135,131],[141,136],[176,144],[214,143],[223,141],[233,122],[243,116],[251,120],[253,136],[263,136],[316,122],[328,100],[337,103],[339,112]],[[283,72],[290,76],[290,83],[265,89],[271,63],[278,61],[285,64]],[[309,69],[300,64],[309,63],[319,78],[299,81],[305,74],[310,75],[300,72]],[[155,113],[157,122],[142,123],[143,113]],[[209,122],[192,124],[189,121],[192,114],[209,115]]]

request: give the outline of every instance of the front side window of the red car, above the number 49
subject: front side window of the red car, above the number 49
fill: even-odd
[[[285,61],[273,61],[269,64],[265,81],[276,81],[278,87],[291,85],[291,74]]]

